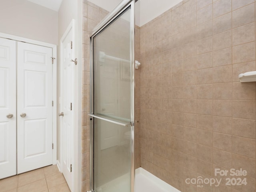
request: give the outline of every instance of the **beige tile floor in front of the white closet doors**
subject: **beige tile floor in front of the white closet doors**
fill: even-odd
[[[56,165],[0,180],[0,192],[70,192]]]

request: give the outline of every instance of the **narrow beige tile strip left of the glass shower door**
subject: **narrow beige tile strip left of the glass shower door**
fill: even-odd
[[[83,0],[83,75],[82,75],[82,191],[89,189],[90,163],[90,38],[92,29],[108,12],[102,8]]]

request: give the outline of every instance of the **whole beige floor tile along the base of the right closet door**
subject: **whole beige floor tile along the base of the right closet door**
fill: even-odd
[[[44,178],[43,169],[36,169],[19,176],[19,187]]]

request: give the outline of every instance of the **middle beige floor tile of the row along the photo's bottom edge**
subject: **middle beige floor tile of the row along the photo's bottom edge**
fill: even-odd
[[[45,179],[21,186],[18,192],[43,192],[47,191],[47,184]]]

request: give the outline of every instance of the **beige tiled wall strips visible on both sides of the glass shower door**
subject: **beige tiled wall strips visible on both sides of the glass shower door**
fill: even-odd
[[[82,79],[82,191],[89,189],[90,162],[90,57],[89,34],[108,11],[83,0],[83,79]],[[140,61],[140,28],[135,28],[135,58]],[[140,70],[135,70],[135,168],[140,167]]]

